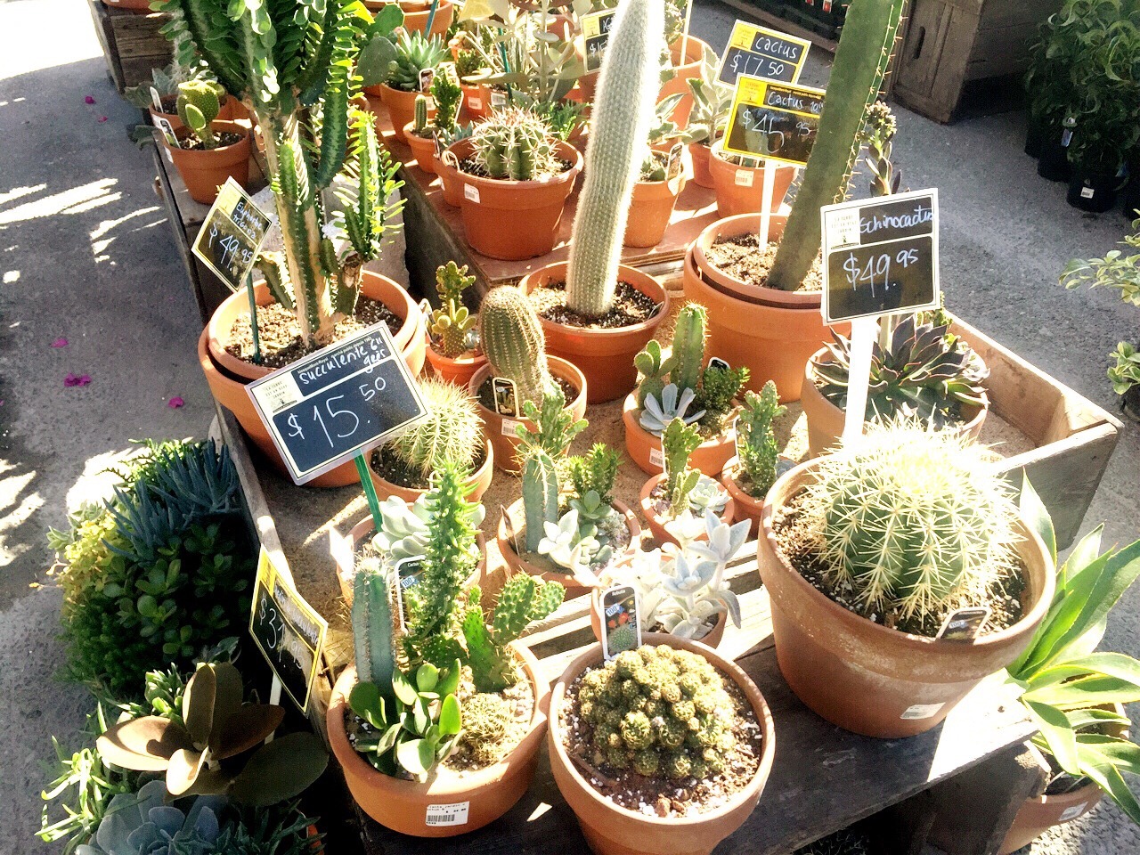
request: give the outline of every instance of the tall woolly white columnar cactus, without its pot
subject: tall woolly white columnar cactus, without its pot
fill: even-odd
[[[661,85],[663,26],[662,0],[626,0],[610,33],[567,270],[567,304],[586,317],[613,306],[629,202]]]

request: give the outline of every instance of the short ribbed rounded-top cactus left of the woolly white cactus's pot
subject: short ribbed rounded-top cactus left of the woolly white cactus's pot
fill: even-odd
[[[520,402],[540,401],[554,388],[546,336],[522,291],[503,285],[488,293],[479,310],[479,333],[491,370],[514,381]]]

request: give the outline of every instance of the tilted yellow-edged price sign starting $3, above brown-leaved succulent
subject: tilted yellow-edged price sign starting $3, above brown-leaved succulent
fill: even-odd
[[[290,579],[277,572],[262,546],[253,584],[250,635],[302,712],[308,711],[327,633],[328,621],[306,602]]]

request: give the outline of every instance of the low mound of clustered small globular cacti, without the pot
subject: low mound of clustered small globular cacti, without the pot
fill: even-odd
[[[735,746],[734,705],[708,660],[643,645],[588,671],[578,709],[596,766],[646,777],[705,780]]]

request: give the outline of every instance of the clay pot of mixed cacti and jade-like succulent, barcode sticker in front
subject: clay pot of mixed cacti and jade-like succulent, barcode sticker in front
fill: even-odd
[[[520,575],[488,619],[479,588],[464,587],[475,530],[462,473],[451,464],[438,473],[422,571],[400,585],[402,614],[388,568],[357,571],[355,666],[336,681],[327,712],[357,804],[417,837],[482,828],[526,792],[546,726],[546,685],[534,656],[513,642],[563,596],[556,583]],[[459,804],[447,819],[435,815]]]

